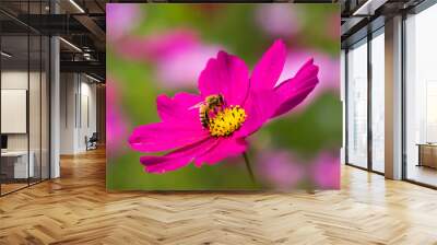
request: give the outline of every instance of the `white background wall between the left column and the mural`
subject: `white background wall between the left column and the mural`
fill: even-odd
[[[84,152],[85,137],[96,131],[96,85],[83,74],[61,73],[60,94],[60,153]]]

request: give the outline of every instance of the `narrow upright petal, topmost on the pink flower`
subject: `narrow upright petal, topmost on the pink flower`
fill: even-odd
[[[285,57],[285,44],[281,39],[275,40],[255,66],[250,78],[251,89],[273,89],[284,68]]]

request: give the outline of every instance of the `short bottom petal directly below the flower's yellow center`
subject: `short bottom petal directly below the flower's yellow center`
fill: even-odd
[[[215,148],[196,159],[196,166],[200,167],[203,163],[213,165],[226,158],[236,156],[247,150],[247,142],[244,138],[229,137],[222,139]]]

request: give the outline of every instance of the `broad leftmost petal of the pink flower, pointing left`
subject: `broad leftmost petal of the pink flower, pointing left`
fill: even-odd
[[[162,121],[137,127],[129,138],[130,147],[141,152],[160,152],[180,148],[210,137],[200,122]]]

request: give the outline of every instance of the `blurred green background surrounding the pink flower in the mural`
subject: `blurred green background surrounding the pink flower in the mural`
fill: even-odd
[[[298,159],[294,160],[294,164],[303,165],[312,164],[320,152],[339,154],[342,141],[340,33],[334,26],[335,24],[340,26],[339,5],[281,3],[110,5],[107,9],[107,78],[108,86],[113,84],[113,92],[107,95],[111,96],[108,97],[110,103],[107,109],[116,112],[113,115],[116,122],[108,125],[107,130],[108,135],[111,133],[110,130],[118,133],[113,133],[114,138],[109,139],[113,142],[108,142],[111,144],[107,154],[108,189],[263,189],[274,187],[275,183],[274,179],[260,176],[263,171],[258,168],[257,164],[262,151],[291,152],[294,159]],[[128,20],[114,16],[110,20],[111,14],[119,14],[118,16]],[[150,39],[160,39],[163,33],[170,33],[173,30],[189,30],[196,33],[198,44],[193,46],[197,48],[189,45],[190,50],[198,52],[220,47],[244,59],[250,69],[276,38],[282,38],[286,43],[291,57],[294,54],[296,57],[306,56],[306,58],[316,56],[315,63],[320,67],[321,72],[324,72],[319,77],[320,88],[317,88],[317,92],[315,90],[300,108],[271,121],[249,139],[251,143],[249,158],[256,171],[257,183],[251,182],[243,158],[226,160],[213,166],[203,165],[200,168],[190,164],[175,172],[156,175],[144,172],[139,161],[142,154],[129,149],[127,139],[135,126],[160,120],[155,103],[157,95],[163,93],[173,95],[179,91],[197,92],[196,77],[187,78],[192,81],[184,83],[177,79],[163,81],[168,75],[165,74],[167,66],[176,66],[169,58],[175,54],[164,51],[163,57],[157,54],[156,57],[142,59],[141,49],[133,48],[138,50],[138,56],[135,54],[129,56],[127,54],[129,50],[123,49],[128,47],[129,40],[150,44]],[[146,49],[144,46],[140,47]],[[184,51],[176,57],[179,59],[185,57]],[[147,50],[144,54],[146,56]],[[193,65],[192,60],[193,58],[190,58],[184,62],[182,58],[179,65]],[[295,69],[303,65],[303,61],[291,62]],[[205,62],[199,66],[204,67]],[[168,69],[170,70],[168,72],[175,70],[175,68]],[[184,68],[180,70],[184,72]],[[288,78],[293,75],[294,72],[287,74]],[[315,185],[309,176],[300,176],[290,188]]]

